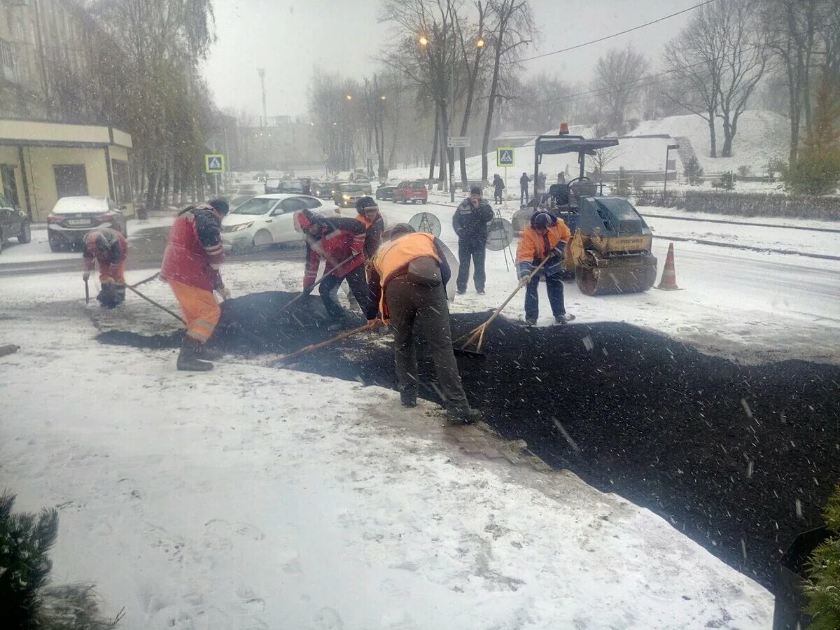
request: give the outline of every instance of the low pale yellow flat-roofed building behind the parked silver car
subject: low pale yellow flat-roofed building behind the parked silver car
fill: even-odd
[[[129,173],[131,136],[97,125],[0,118],[3,196],[46,221],[59,197],[110,197],[134,215]]]

